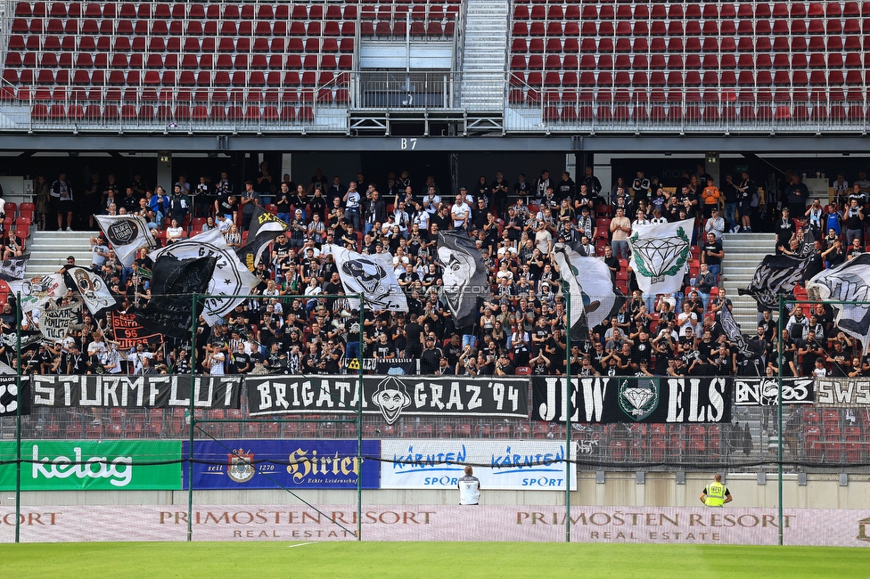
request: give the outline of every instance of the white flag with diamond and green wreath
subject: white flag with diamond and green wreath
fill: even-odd
[[[644,294],[679,291],[692,253],[694,219],[635,225],[628,237],[629,264]]]

